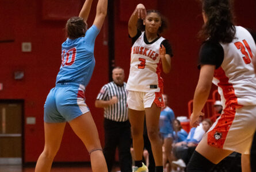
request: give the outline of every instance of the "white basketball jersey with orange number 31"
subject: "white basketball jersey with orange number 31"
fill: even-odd
[[[223,105],[256,105],[256,77],[251,62],[256,56],[256,45],[246,29],[241,26],[235,29],[235,38],[231,43],[220,43],[224,60],[221,67],[215,70],[213,83],[219,86]]]

